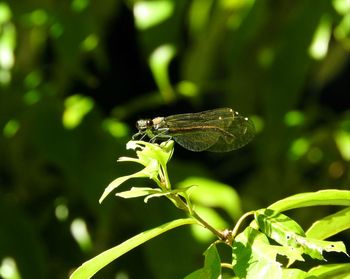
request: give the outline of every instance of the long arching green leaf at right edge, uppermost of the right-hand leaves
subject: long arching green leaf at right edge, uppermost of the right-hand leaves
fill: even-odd
[[[330,189],[297,194],[280,200],[268,208],[282,212],[294,208],[319,205],[350,206],[350,191]]]

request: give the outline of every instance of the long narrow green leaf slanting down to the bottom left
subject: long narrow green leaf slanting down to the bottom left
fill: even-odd
[[[83,263],[78,267],[70,276],[70,279],[82,279],[82,278],[91,278],[96,272],[105,267],[110,262],[134,249],[135,247],[145,243],[146,241],[165,233],[171,229],[174,229],[183,225],[197,224],[192,218],[187,219],[178,219],[171,221],[169,223],[163,224],[157,228],[142,232],[123,243],[104,251],[98,256],[92,258],[91,260]]]

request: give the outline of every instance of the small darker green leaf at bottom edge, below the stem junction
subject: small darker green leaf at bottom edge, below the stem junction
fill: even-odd
[[[204,252],[204,267],[192,272],[185,279],[218,279],[221,275],[221,259],[215,244],[209,246]]]

